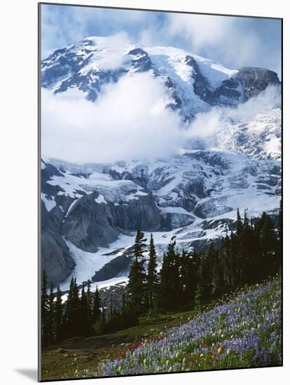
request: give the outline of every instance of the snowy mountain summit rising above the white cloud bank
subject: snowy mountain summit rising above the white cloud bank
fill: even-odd
[[[42,87],[53,92],[77,88],[95,101],[102,87],[135,72],[153,71],[172,96],[170,107],[184,120],[210,106],[235,105],[257,95],[277,73],[244,67],[226,69],[213,60],[172,47],[117,46],[112,38],[92,36],[56,50],[41,64]]]

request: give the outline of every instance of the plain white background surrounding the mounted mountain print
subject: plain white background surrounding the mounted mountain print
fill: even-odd
[[[66,1],[58,1],[66,2]],[[289,316],[289,30],[287,1],[68,0],[103,6],[284,18],[284,367],[150,377],[92,379],[97,384],[288,383]],[[37,365],[37,1],[6,0],[0,15],[0,381],[32,384]],[[269,52],[270,55],[270,52]],[[288,71],[287,71],[288,69]],[[287,184],[288,183],[288,186]],[[287,239],[288,238],[288,239]],[[61,381],[60,384],[64,382]],[[78,382],[79,384],[79,382]],[[81,383],[81,384],[87,384]]]

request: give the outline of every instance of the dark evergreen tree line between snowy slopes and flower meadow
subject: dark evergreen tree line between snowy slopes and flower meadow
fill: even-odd
[[[153,236],[148,248],[146,241],[144,232],[138,230],[121,309],[104,308],[97,287],[91,292],[90,281],[83,283],[80,293],[76,279],[71,279],[63,304],[60,288],[55,294],[51,283],[48,293],[43,272],[43,344],[127,328],[145,314],[198,309],[228,290],[268,278],[281,266],[282,208],[276,226],[268,214],[253,221],[247,211],[242,217],[237,210],[236,231],[223,237],[219,245],[212,242],[207,250],[180,252],[172,237],[159,271]]]

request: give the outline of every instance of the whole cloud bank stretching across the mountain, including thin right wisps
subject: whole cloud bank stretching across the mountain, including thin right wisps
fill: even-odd
[[[223,140],[238,121],[280,108],[280,92],[268,87],[235,108],[216,106],[198,113],[188,125],[153,73],[133,73],[106,85],[96,102],[70,89],[42,90],[41,143],[44,158],[70,162],[108,163],[118,160],[166,158],[192,148],[223,150]]]

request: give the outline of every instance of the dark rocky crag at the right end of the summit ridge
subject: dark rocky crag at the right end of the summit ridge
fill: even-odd
[[[277,73],[265,68],[242,67],[237,73],[244,87],[245,99],[258,95],[268,85],[280,85]]]

